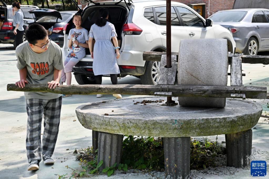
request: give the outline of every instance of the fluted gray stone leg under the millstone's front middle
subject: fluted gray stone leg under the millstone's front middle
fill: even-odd
[[[164,137],[165,177],[188,178],[190,173],[190,137]]]

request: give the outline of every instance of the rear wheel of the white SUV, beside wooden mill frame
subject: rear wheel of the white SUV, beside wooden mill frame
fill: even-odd
[[[160,78],[160,61],[148,61],[144,75],[140,76],[143,85],[156,85]]]

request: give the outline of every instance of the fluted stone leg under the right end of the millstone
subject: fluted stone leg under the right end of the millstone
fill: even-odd
[[[227,166],[241,168],[250,165],[252,130],[225,134]]]

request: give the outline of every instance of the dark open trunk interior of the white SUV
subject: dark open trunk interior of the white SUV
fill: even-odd
[[[128,14],[126,8],[119,5],[107,5],[107,6],[89,6],[88,8],[83,10],[82,13],[82,27],[84,27],[87,31],[90,31],[90,28],[93,24],[95,24],[98,19],[98,11],[100,8],[107,8],[109,11],[109,22],[114,24],[116,33],[118,35],[118,45],[121,47],[121,33],[123,24],[125,24]],[[74,28],[72,20],[69,22],[69,27],[66,28],[66,34],[69,34],[70,29]],[[93,41],[94,43],[95,41]],[[113,41],[111,40],[112,44]],[[90,55],[89,49],[86,48],[86,55]]]

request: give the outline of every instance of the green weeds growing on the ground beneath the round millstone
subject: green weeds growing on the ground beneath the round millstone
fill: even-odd
[[[86,149],[76,149],[74,155],[80,161],[81,171],[73,170],[71,176],[67,174],[58,175],[62,178],[76,178],[79,176],[92,176],[106,173],[111,176],[116,170],[126,172],[128,169],[139,169],[144,172],[157,170],[164,171],[164,147],[162,138],[157,137],[136,137],[124,136],[122,143],[121,163],[114,163],[113,166],[106,166],[102,171],[99,167],[102,165],[101,160],[97,163],[97,150],[93,151],[92,147]],[[192,139],[190,144],[190,169],[205,169],[216,166],[215,157],[225,155],[226,149],[223,144],[216,141]]]

